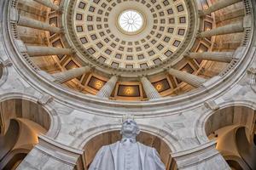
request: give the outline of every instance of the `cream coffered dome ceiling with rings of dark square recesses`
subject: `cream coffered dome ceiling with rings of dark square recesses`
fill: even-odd
[[[70,24],[77,38],[73,44],[79,44],[81,53],[87,52],[84,58],[90,55],[92,60],[88,62],[99,67],[106,65],[117,72],[133,71],[133,76],[135,70],[150,72],[163,62],[179,57],[178,51],[184,50],[183,42],[191,41],[186,36],[191,27],[190,17],[194,16],[189,16],[187,2],[92,1],[83,4],[69,4],[74,7],[74,21]],[[129,17],[138,20],[134,27],[129,25],[129,21],[133,23]],[[124,20],[125,25],[125,19],[128,24],[123,28],[120,23]]]

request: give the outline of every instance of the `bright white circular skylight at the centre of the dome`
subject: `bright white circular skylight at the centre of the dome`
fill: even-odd
[[[119,26],[127,32],[136,32],[143,27],[143,16],[135,10],[125,10],[119,16]]]

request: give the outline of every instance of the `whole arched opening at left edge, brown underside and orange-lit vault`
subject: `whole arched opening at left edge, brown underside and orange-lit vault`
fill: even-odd
[[[7,99],[0,103],[0,169],[15,169],[46,134],[50,117],[42,105],[26,99]]]

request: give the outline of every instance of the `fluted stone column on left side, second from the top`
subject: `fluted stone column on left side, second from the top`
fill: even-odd
[[[51,32],[55,32],[55,33],[60,33],[61,32],[61,28],[55,27],[55,26],[50,26],[47,23],[44,23],[42,21],[39,20],[33,20],[30,18],[26,18],[24,16],[19,16],[19,20],[18,20],[18,25],[19,26],[26,26],[26,27],[30,27],[30,28],[35,28],[38,30],[44,30],[44,31],[51,31]]]

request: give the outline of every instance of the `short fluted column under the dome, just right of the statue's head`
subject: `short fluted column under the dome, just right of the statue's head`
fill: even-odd
[[[143,89],[147,94],[148,99],[159,99],[161,97],[152,83],[148,81],[147,77],[142,77],[141,82],[143,83]]]

